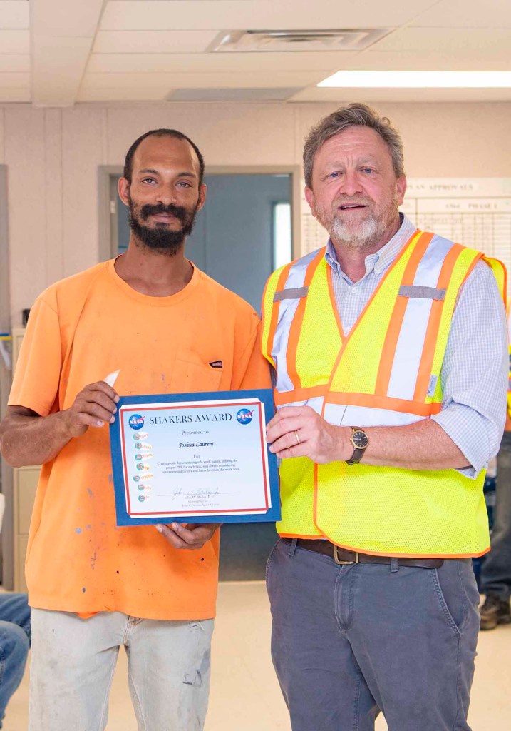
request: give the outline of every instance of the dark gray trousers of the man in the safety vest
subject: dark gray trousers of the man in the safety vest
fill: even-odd
[[[277,542],[272,658],[293,731],[470,731],[479,630],[471,561],[338,566]]]

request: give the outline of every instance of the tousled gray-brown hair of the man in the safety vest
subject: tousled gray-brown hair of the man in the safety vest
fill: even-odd
[[[391,125],[388,117],[380,115],[366,104],[356,102],[355,104],[340,107],[328,117],[323,118],[312,127],[304,145],[304,176],[307,188],[312,188],[312,167],[319,148],[329,140],[330,137],[339,135],[348,127],[364,126],[374,129],[382,138],[388,151],[391,154],[392,166],[396,178],[404,175],[403,140],[395,127]]]

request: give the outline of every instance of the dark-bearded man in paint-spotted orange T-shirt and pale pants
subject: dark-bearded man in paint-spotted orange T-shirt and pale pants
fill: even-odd
[[[107,426],[118,393],[269,385],[257,315],[185,258],[203,172],[181,132],[139,137],[119,183],[126,254],[31,310],[0,447],[13,466],[42,464],[26,564],[33,731],[104,729],[120,645],[139,728],[203,728],[218,526],[116,527]]]

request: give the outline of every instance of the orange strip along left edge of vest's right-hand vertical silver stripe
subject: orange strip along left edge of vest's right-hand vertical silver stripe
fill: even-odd
[[[415,232],[414,235],[416,235]],[[418,243],[415,246],[415,250],[410,257],[409,262],[403,273],[403,279],[401,284],[411,285],[415,279],[420,260],[424,255],[424,252],[431,243],[431,239],[434,234],[423,233],[418,239]],[[399,340],[399,333],[401,332],[401,325],[403,324],[404,313],[407,311],[408,297],[396,298],[396,304],[394,305],[391,320],[388,323],[388,330],[385,336],[385,342],[383,344],[382,353],[380,356],[380,365],[378,367],[378,373],[376,377],[376,385],[374,387],[374,393],[376,395],[385,396],[388,392],[388,384],[391,381],[392,367],[394,363],[394,357],[396,355],[397,342]]]

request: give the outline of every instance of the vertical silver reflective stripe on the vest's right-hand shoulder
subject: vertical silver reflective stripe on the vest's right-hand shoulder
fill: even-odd
[[[453,242],[434,236],[418,265],[413,287],[437,289],[442,264]],[[410,298],[404,312],[387,395],[412,401],[431,314],[431,298]]]

